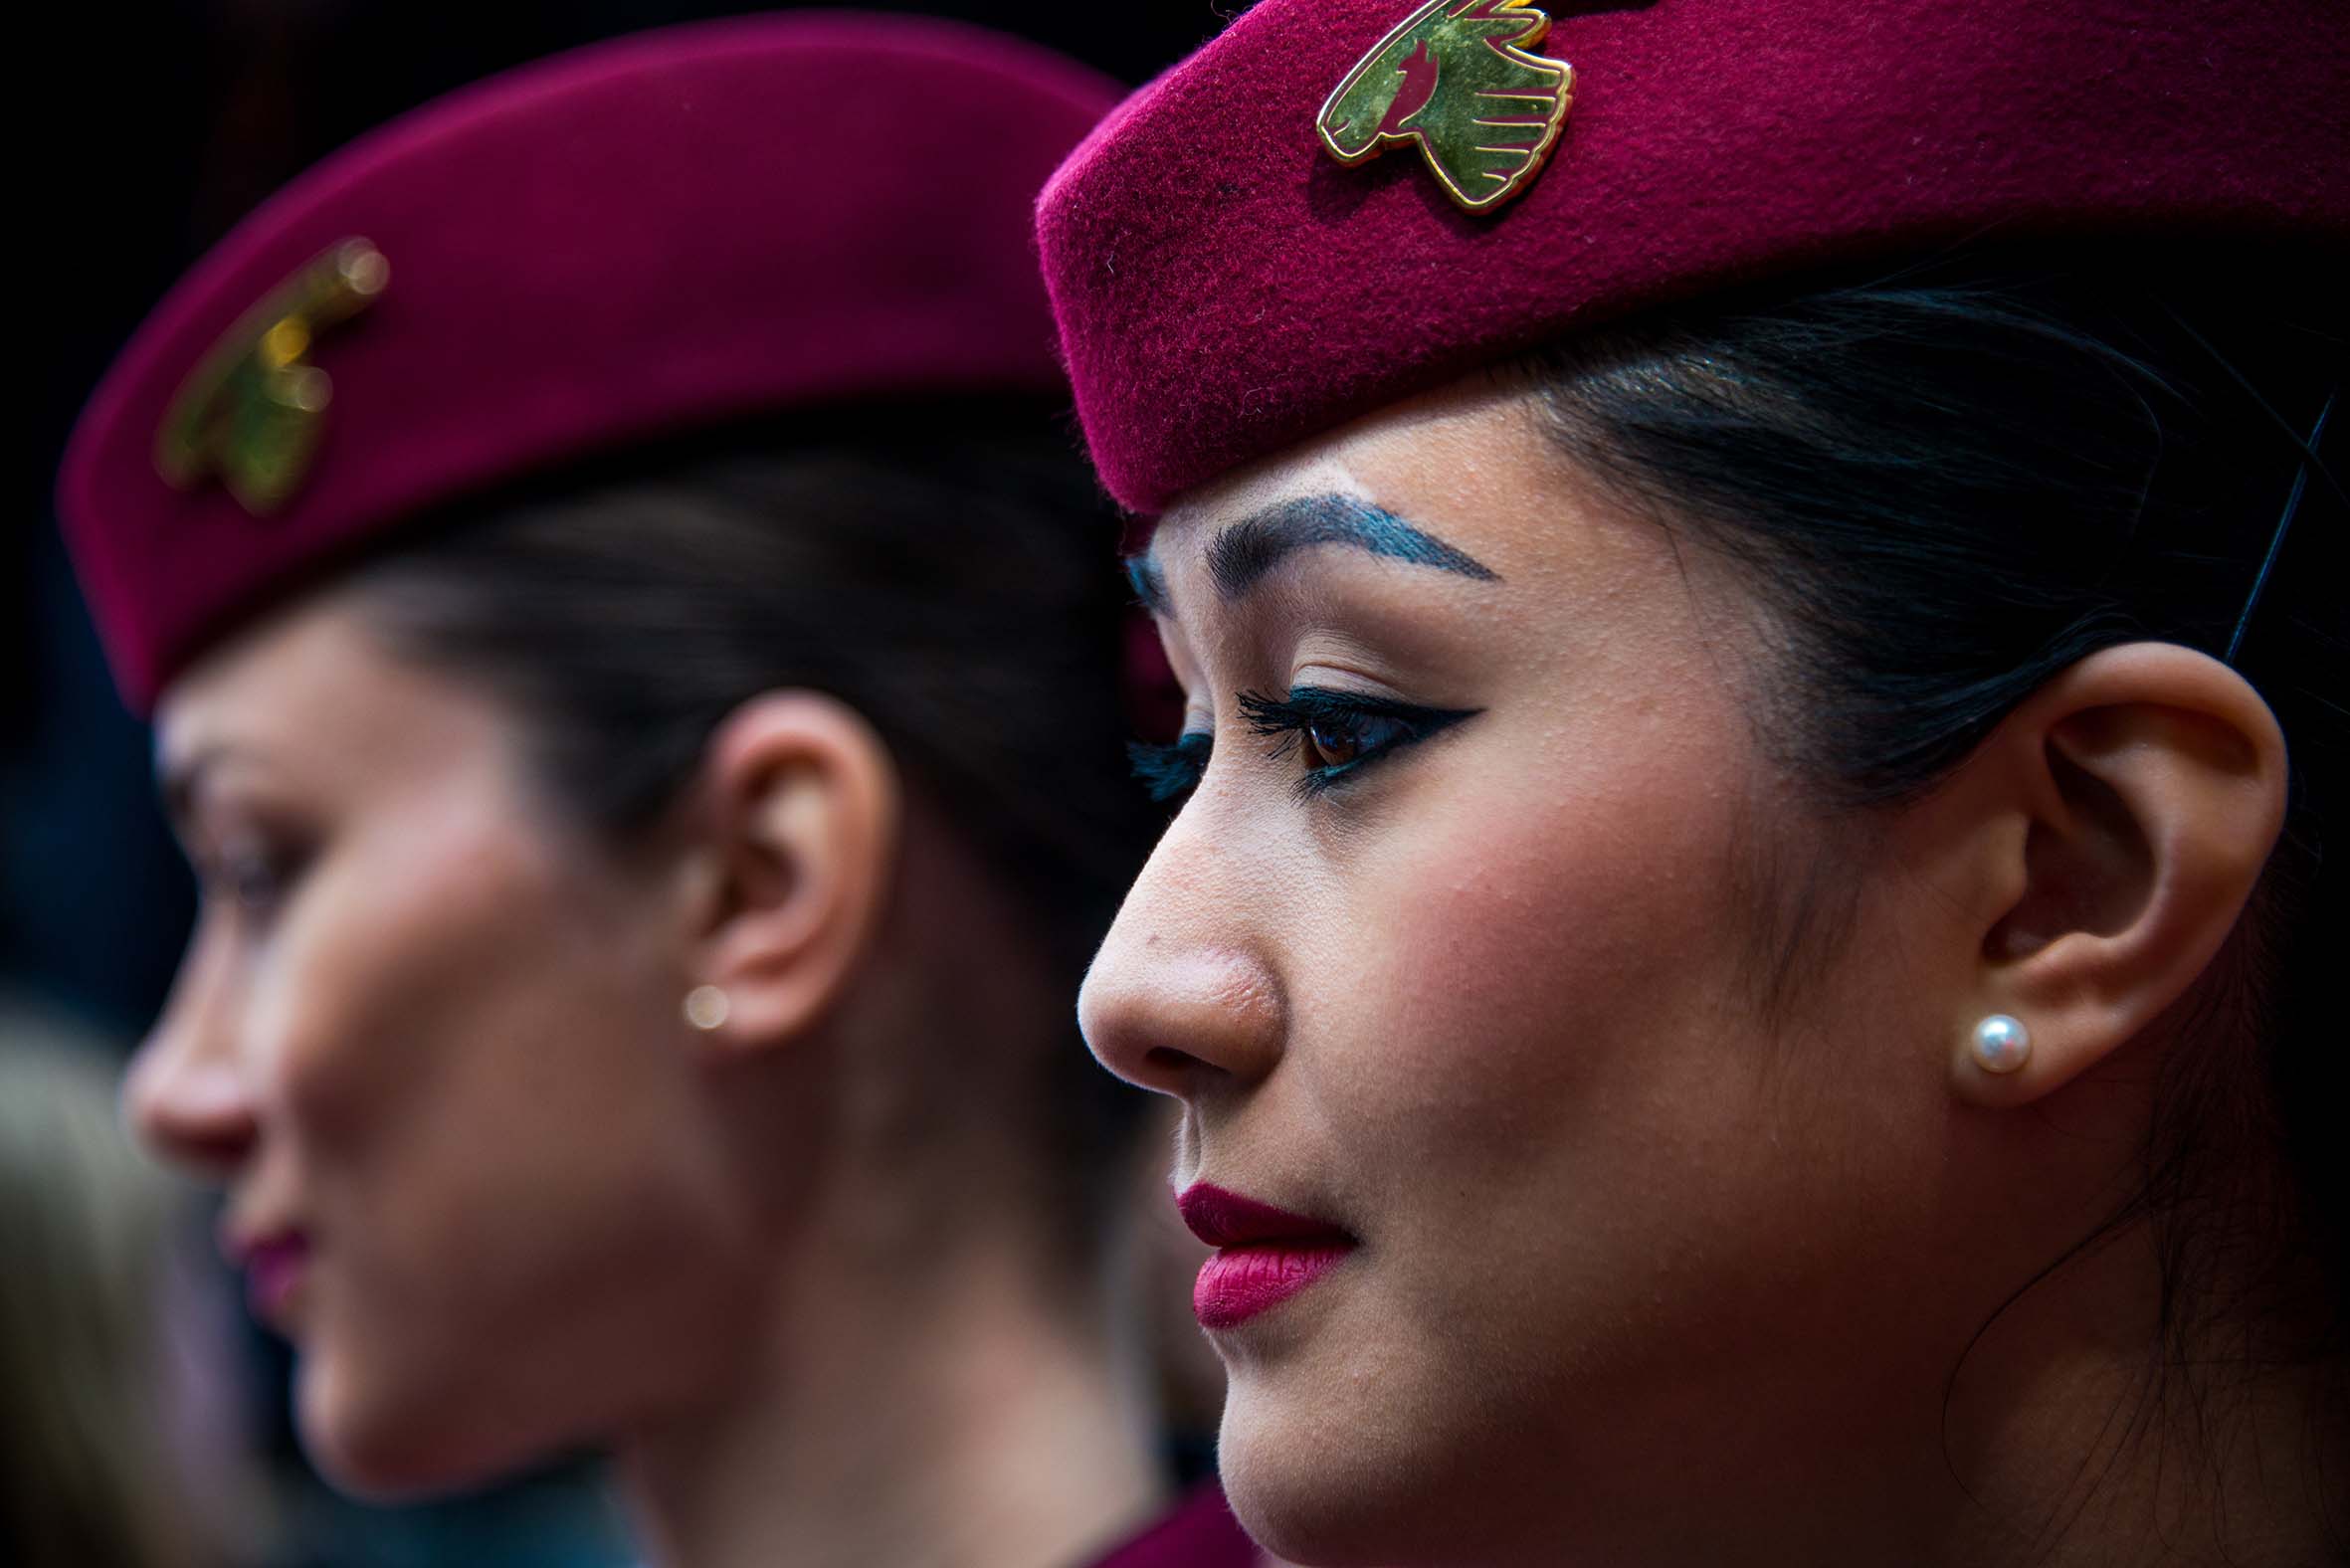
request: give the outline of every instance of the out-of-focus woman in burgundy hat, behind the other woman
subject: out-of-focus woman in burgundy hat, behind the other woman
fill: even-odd
[[[261,207],[63,522],[204,903],[139,1131],[343,1486],[613,1448],[663,1563],[1222,1563],[1067,1041],[1140,860],[1029,249],[1090,73],[846,14],[510,73]]]

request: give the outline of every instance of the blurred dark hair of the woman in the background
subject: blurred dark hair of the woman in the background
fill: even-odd
[[[740,703],[841,698],[1074,997],[1156,827],[1121,750],[1114,559],[1069,437],[1015,397],[799,414],[573,465],[360,585],[397,651],[517,712],[555,802],[616,844],[679,797]],[[1053,1190],[1083,1204],[1112,1182],[1067,1171],[1123,1152],[1140,1095],[1065,1030],[1006,1098],[1032,1117],[1022,1143],[1062,1161]]]

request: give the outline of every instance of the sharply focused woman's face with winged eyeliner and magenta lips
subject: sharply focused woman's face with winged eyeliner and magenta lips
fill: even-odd
[[[1081,1018],[1182,1095],[1177,1190],[1295,1215],[1187,1204],[1295,1241],[1201,1293],[1267,1544],[1631,1561],[1932,1420],[2005,1288],[1946,992],[1765,759],[1727,569],[1476,390],[1191,496],[1137,576],[1213,759]]]

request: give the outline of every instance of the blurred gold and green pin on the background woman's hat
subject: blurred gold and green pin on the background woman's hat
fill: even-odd
[[[155,433],[155,470],[176,489],[219,475],[254,517],[282,508],[317,456],[334,383],[308,362],[336,322],[367,310],[392,268],[343,240],[237,317],[181,383]]]

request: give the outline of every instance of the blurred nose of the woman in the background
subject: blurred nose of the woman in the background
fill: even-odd
[[[251,1086],[228,1030],[228,985],[197,933],[162,1018],[122,1079],[122,1110],[139,1140],[212,1180],[235,1175],[258,1138]]]

